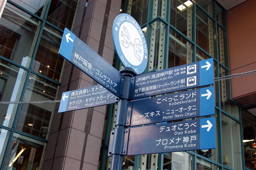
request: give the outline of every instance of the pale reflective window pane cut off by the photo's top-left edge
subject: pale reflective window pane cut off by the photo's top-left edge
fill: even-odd
[[[36,14],[38,17],[43,17],[42,12],[47,4],[47,0],[12,0],[17,5],[23,7],[24,9]]]

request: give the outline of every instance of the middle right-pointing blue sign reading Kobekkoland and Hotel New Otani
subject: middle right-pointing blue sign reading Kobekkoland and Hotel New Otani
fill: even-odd
[[[133,101],[130,126],[214,115],[214,86]]]

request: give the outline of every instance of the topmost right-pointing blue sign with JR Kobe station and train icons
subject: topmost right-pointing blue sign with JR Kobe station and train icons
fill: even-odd
[[[133,99],[213,84],[213,59],[135,77]]]

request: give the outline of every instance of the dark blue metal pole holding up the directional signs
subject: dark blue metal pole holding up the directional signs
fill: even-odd
[[[131,95],[129,94],[131,92],[130,88],[133,87],[133,77],[136,76],[134,69],[129,67],[125,67],[124,69],[120,70],[120,72],[122,73],[122,86],[119,94],[122,99],[118,103],[116,112],[116,124],[113,134],[112,152],[110,153],[112,156],[111,170],[122,169],[123,154],[126,154],[126,150],[123,150],[123,144],[125,133],[128,133],[128,131],[125,130],[128,111],[128,99],[131,98]]]

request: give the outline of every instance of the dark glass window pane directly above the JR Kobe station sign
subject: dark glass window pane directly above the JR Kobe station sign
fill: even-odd
[[[193,45],[179,33],[170,29],[168,68],[192,63]]]

